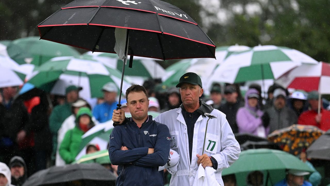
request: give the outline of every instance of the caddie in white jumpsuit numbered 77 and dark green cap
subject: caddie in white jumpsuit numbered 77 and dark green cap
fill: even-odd
[[[170,148],[180,155],[178,171],[172,174],[170,186],[193,185],[199,164],[213,167],[217,182],[223,186],[222,169],[234,163],[241,152],[225,114],[207,105],[199,97],[203,94],[200,77],[188,72],[179,84],[182,105],[164,112],[155,120],[168,126],[171,135]],[[205,114],[216,118],[209,119]],[[206,122],[209,119],[204,154],[203,143]],[[124,112],[114,111],[113,121],[124,121]]]

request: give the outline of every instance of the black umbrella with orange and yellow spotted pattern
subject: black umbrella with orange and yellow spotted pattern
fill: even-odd
[[[285,152],[299,155],[306,150],[323,131],[312,125],[291,125],[275,130],[268,135],[268,140],[278,144]]]

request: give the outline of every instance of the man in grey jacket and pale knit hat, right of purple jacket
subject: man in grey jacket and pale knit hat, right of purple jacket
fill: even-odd
[[[291,126],[297,123],[298,117],[295,112],[285,107],[286,93],[283,89],[277,88],[274,90],[273,106],[266,110],[262,116],[264,124],[269,122],[269,133],[274,130]]]

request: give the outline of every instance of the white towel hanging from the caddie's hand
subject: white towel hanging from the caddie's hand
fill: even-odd
[[[197,169],[193,186],[221,186],[216,181],[214,172],[214,168],[207,166],[204,169],[202,164],[200,164]]]

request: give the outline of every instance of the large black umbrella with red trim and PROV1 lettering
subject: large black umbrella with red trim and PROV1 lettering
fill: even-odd
[[[76,0],[38,25],[41,39],[108,53],[115,53],[116,39],[119,43],[115,31],[120,28],[127,29],[121,41],[125,40],[125,59],[131,56],[130,67],[133,56],[215,58],[215,44],[199,25],[181,9],[159,0]]]

